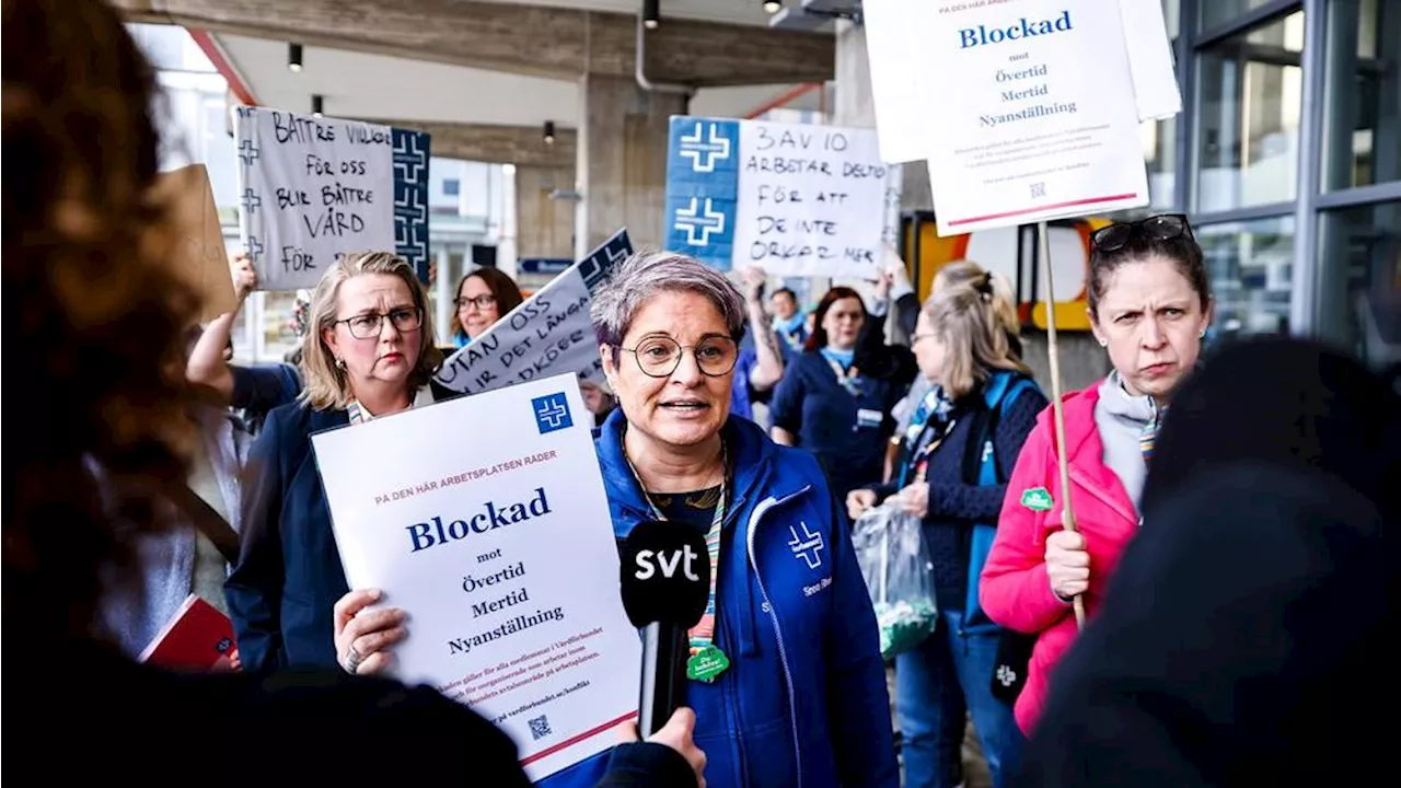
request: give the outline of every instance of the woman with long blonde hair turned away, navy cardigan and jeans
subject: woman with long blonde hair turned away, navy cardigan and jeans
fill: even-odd
[[[904,736],[905,785],[953,788],[968,714],[995,785],[1021,749],[1012,708],[992,693],[1003,631],[978,600],[1005,480],[1047,405],[1027,366],[1009,349],[991,278],[937,292],[911,337],[933,388],[915,405],[888,485],[852,491],[856,519],[890,499],[923,519],[939,627],[895,659],[895,711]]]

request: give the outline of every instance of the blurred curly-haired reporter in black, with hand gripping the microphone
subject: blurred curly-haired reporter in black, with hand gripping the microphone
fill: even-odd
[[[15,416],[0,453],[7,770],[24,782],[247,785],[291,771],[525,787],[511,742],[432,690],[175,674],[111,639],[99,603],[139,580],[134,537],[179,520],[151,491],[189,467],[182,373],[200,299],[175,275],[189,261],[171,198],[153,192],[156,73],[120,17],[97,0],[0,0],[0,328],[27,376],[0,393]],[[604,784],[695,785],[691,721],[616,747]]]

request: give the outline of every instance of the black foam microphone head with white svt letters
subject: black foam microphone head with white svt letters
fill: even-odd
[[[622,551],[622,606],[633,627],[670,624],[689,630],[710,599],[710,554],[705,536],[682,523],[646,522]]]

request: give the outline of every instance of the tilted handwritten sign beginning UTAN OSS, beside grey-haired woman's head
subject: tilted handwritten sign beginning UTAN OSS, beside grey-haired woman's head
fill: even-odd
[[[629,254],[632,243],[628,231],[619,230],[453,353],[443,362],[434,381],[462,394],[479,394],[562,372],[573,372],[590,383],[604,383],[598,341],[588,320],[588,294]]]

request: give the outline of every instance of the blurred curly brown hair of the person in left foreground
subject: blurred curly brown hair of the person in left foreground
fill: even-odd
[[[156,76],[118,14],[0,0],[0,315],[18,377],[0,407],[20,433],[0,458],[0,621],[90,637],[104,566],[130,565],[113,513],[160,524],[108,482],[185,478],[198,304],[151,189]]]

